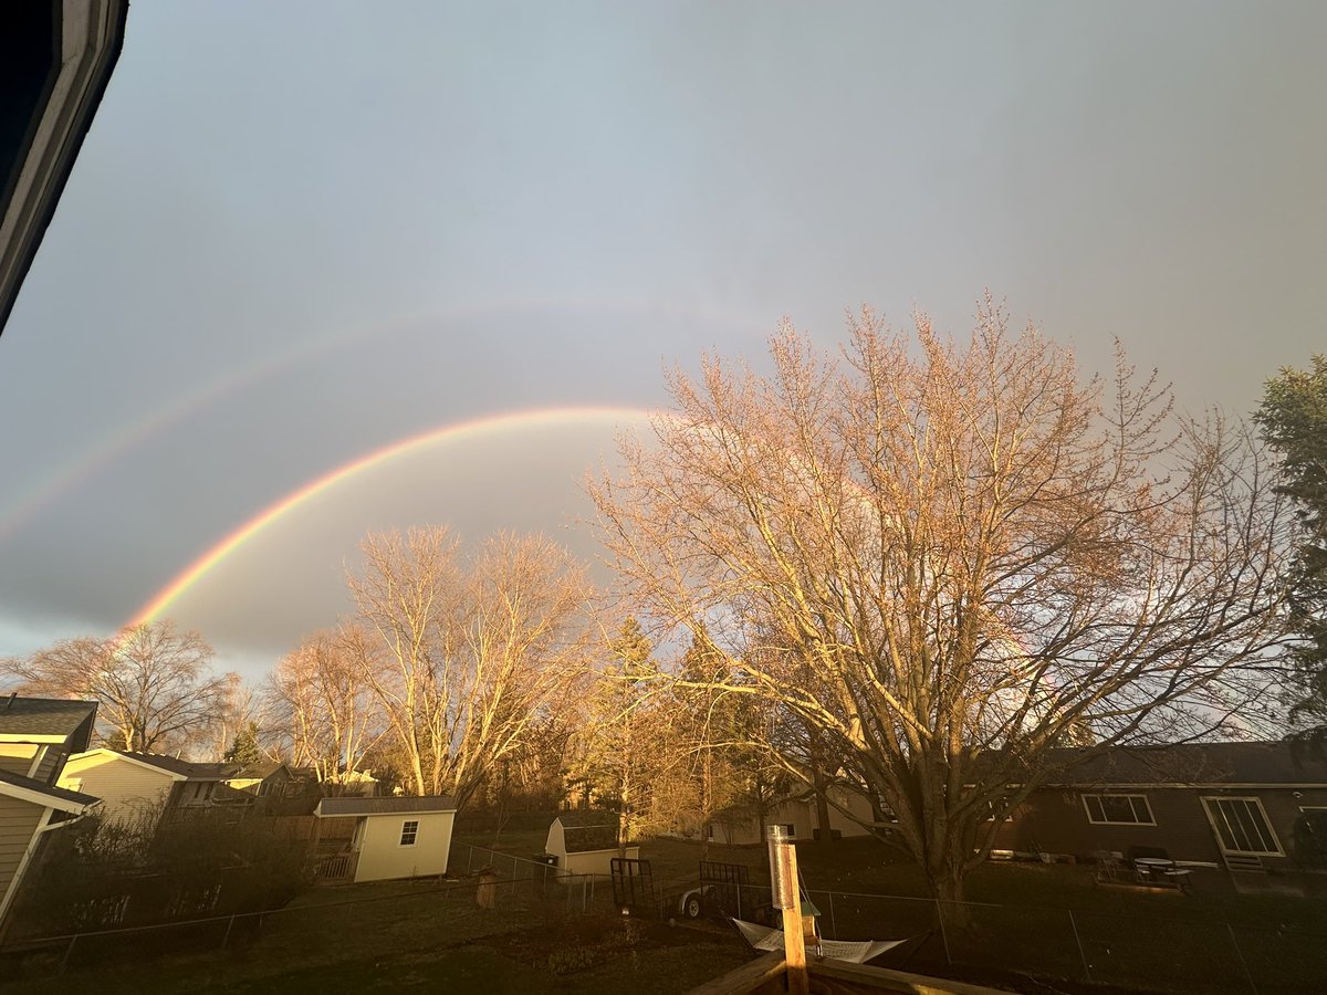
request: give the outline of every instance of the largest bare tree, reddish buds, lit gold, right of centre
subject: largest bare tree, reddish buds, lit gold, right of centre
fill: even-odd
[[[966,342],[867,312],[837,360],[791,326],[771,354],[671,377],[677,414],[592,487],[605,539],[722,687],[893,809],[936,896],[1066,758],[1259,707],[1285,513],[1241,427],[1174,415],[1123,356],[1080,382],[989,297]]]

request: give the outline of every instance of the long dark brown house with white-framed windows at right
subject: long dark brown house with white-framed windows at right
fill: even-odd
[[[1064,773],[1010,815],[998,849],[1085,857],[1149,846],[1233,870],[1324,868],[1327,759],[1296,756],[1287,743],[1064,750],[1050,759]]]

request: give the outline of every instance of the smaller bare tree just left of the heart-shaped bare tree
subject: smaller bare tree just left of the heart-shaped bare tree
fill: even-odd
[[[324,784],[353,780],[385,732],[378,702],[364,679],[374,666],[368,633],[357,625],[318,633],[277,661],[268,687],[272,724],[293,763]]]

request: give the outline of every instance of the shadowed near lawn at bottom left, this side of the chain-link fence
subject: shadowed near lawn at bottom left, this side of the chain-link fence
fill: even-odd
[[[353,905],[349,902],[356,901]],[[411,882],[316,889],[287,910],[188,930],[89,937],[64,975],[65,949],[0,961],[5,995],[93,984],[104,995],[222,992],[483,991],[670,995],[744,963],[751,954],[721,930],[565,915],[560,901],[474,888],[443,894]],[[179,953],[186,947],[196,953]],[[21,972],[21,974],[20,974]],[[11,974],[19,974],[12,978]]]

